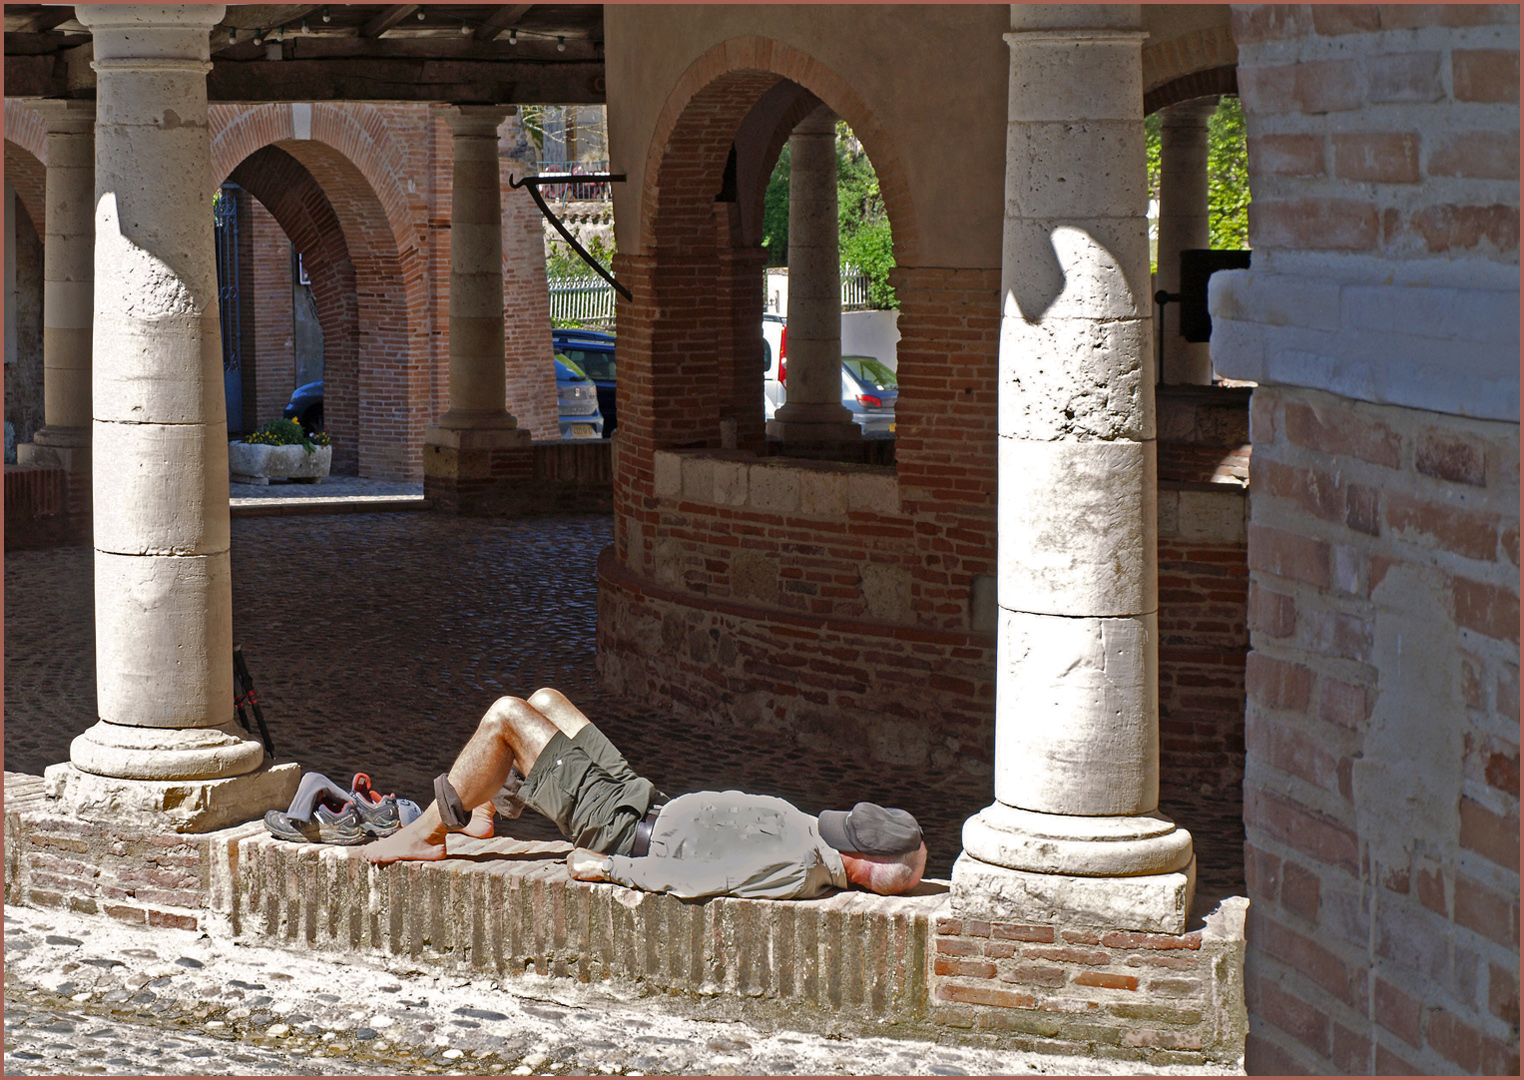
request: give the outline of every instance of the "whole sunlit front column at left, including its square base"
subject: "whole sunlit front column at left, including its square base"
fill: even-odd
[[[75,813],[181,832],[285,806],[233,719],[227,417],[212,248],[207,35],[221,5],[84,5],[94,37],[99,722],[47,769]]]

